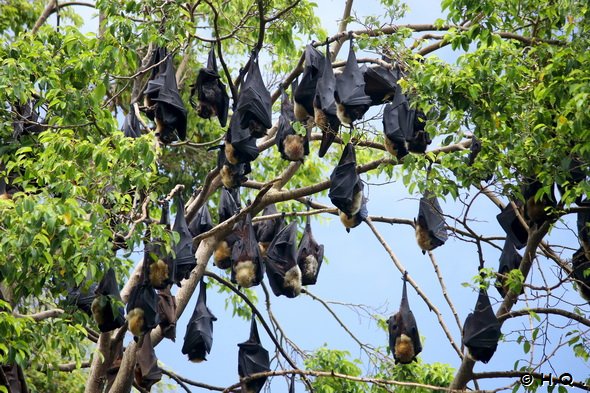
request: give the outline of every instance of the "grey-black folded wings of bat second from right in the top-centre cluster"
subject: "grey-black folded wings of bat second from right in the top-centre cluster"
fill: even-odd
[[[365,94],[365,78],[358,66],[356,54],[352,48],[350,40],[350,49],[346,66],[339,78],[336,78],[336,98],[344,106],[357,106],[371,104],[371,97]]]

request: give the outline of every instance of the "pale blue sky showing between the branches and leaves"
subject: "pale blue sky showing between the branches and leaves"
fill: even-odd
[[[344,1],[318,0],[318,3],[318,16],[322,19],[326,30],[332,34],[337,29]],[[439,1],[412,0],[409,1],[409,5],[410,12],[407,17],[398,21],[398,23],[410,21],[413,23],[429,23],[441,17]],[[361,17],[382,14],[379,2],[376,0],[358,1],[354,9]],[[339,55],[340,59],[345,58],[347,48],[348,46],[345,45]],[[437,52],[435,55],[447,61],[454,61],[455,59],[455,55],[449,49],[442,50],[440,53]],[[387,179],[374,181],[383,180]],[[369,192],[368,209],[371,215],[407,219],[413,219],[417,215],[419,196],[409,195],[401,181],[383,186],[370,186]],[[330,204],[327,199],[322,202]],[[441,202],[445,213],[459,215],[461,212],[460,204],[454,203],[452,200]],[[488,235],[502,234],[495,219],[498,210],[485,198],[478,198],[472,211],[474,212],[473,218],[478,220],[473,224],[474,228]],[[567,217],[567,219],[566,224],[570,228],[575,228],[573,218]],[[388,240],[390,247],[408,272],[418,282],[420,288],[440,309],[455,341],[460,343],[459,329],[454,322],[449,307],[442,298],[441,288],[428,256],[422,255],[416,245],[413,229],[401,225],[379,223],[375,225]],[[322,266],[318,284],[310,287],[310,291],[327,301],[367,305],[376,309],[376,312],[385,318],[395,313],[401,295],[401,273],[393,265],[370,229],[366,225],[362,225],[348,234],[337,218],[323,220],[322,223],[314,220],[312,226],[316,239],[325,245],[325,254],[329,259],[329,263]],[[577,248],[574,234],[565,229],[553,230],[551,242],[568,244]],[[499,246],[501,247],[502,244],[499,243]],[[484,252],[486,266],[496,268],[499,251],[486,246]],[[445,279],[449,297],[453,300],[459,313],[459,319],[463,323],[467,314],[473,310],[477,298],[477,293],[473,289],[462,285],[465,282],[470,282],[471,278],[477,274],[478,259],[475,246],[451,237],[444,246],[434,251],[434,255]],[[571,251],[566,250],[563,254],[566,259],[569,259],[570,256]],[[210,265],[210,269],[219,274],[219,271],[212,265]],[[540,282],[542,280],[541,271],[549,273],[549,271],[554,270],[555,268],[547,261],[535,263],[535,269],[532,272],[533,280]],[[551,277],[548,280],[555,282],[555,280],[551,281]],[[569,284],[566,284],[566,287],[571,289]],[[264,294],[262,289],[258,287],[255,288],[255,291],[259,298],[260,308],[263,309]],[[565,299],[580,304],[580,298],[576,293],[572,292],[570,290],[570,293],[565,294]],[[492,305],[497,308],[498,302],[501,301],[497,292],[491,289],[489,295]],[[418,328],[424,338],[424,349],[420,355],[422,360],[429,363],[449,363],[453,367],[458,367],[460,361],[444,336],[436,315],[429,311],[426,304],[416,295],[412,288],[409,288],[409,300],[416,316]],[[233,384],[238,380],[237,343],[247,339],[249,322],[237,317],[232,318],[231,310],[225,310],[224,296],[210,290],[208,293],[208,305],[218,318],[214,325],[213,349],[207,362],[201,364],[190,363],[181,354],[180,350],[186,324],[194,308],[195,301],[196,294],[193,296],[193,301],[188,305],[185,315],[178,321],[176,342],[162,342],[156,349],[157,356],[166,367],[187,378],[217,386]],[[313,350],[322,345],[327,345],[333,349],[348,350],[352,357],[360,357],[366,360],[358,345],[318,302],[313,301],[306,295],[301,295],[296,299],[276,298],[273,296],[271,302],[273,312],[281,322],[285,333],[300,348]],[[519,301],[515,309],[527,306],[527,302]],[[554,304],[548,303],[546,306],[552,307]],[[332,305],[332,307],[361,341],[373,346],[384,347],[387,345],[386,333],[380,330],[374,321],[366,315],[359,315],[351,308],[342,305]],[[565,321],[552,318],[551,322],[561,324]],[[507,335],[507,339],[512,342],[501,343],[492,360],[487,365],[478,363],[475,371],[512,370],[512,366],[517,359],[528,360],[531,355],[525,354],[522,346],[514,343],[518,336],[511,334],[511,332],[522,327],[528,328],[529,325],[529,319],[524,317],[506,323],[502,331]],[[259,331],[264,346],[272,354],[272,342],[260,326]],[[557,337],[551,337],[550,339],[555,344]],[[537,352],[533,356],[538,356],[539,348],[535,349],[535,351]],[[556,373],[570,372],[577,380],[586,378],[590,374],[588,364],[574,359],[568,348],[559,350],[555,361],[551,365],[543,365],[539,371],[544,373],[552,372],[554,375]],[[511,381],[504,380],[502,382],[507,385]],[[493,381],[493,386],[497,385],[498,381]],[[273,380],[272,390],[275,392],[286,391],[286,386],[285,380],[278,377]],[[490,387],[492,385],[484,382],[481,386]],[[200,392],[205,390],[192,388],[192,391]],[[304,391],[303,387],[299,386],[298,391]]]

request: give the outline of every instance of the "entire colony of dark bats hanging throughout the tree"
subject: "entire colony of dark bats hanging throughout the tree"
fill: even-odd
[[[334,142],[341,124],[353,126],[363,118],[370,106],[384,105],[383,133],[386,150],[397,159],[410,153],[424,153],[431,140],[425,130],[426,116],[418,109],[411,108],[408,98],[402,93],[397,81],[400,70],[381,65],[359,67],[352,47],[344,70],[335,75],[326,43],[325,56],[314,47],[307,45],[305,65],[301,80],[291,87],[292,98],[281,88],[281,110],[276,134],[276,146],[283,159],[302,161],[310,154],[310,130],[313,126],[322,133],[318,154],[323,157]],[[385,59],[388,60],[388,59]],[[186,138],[187,111],[180,98],[172,58],[166,50],[154,52],[152,64],[160,63],[153,69],[150,81],[144,91],[145,114],[154,121],[155,132],[164,144]],[[219,221],[230,219],[241,210],[239,187],[250,173],[250,163],[258,156],[256,140],[267,134],[271,128],[271,97],[264,85],[258,53],[254,51],[244,70],[244,81],[240,87],[237,102],[233,103],[233,115],[224,143],[219,146],[217,166],[223,183],[219,202]],[[193,100],[196,95],[197,100]],[[197,114],[205,119],[217,117],[221,126],[228,120],[229,97],[218,73],[215,52],[209,52],[207,66],[201,68],[191,90],[191,103]],[[306,129],[298,134],[296,122]],[[126,116],[122,131],[126,136],[141,135],[140,121],[131,111]],[[17,132],[17,130],[15,130]],[[20,130],[18,132],[24,132]],[[476,160],[481,142],[473,137],[468,164]],[[581,181],[583,174],[573,181]],[[329,198],[338,208],[338,213],[347,231],[360,225],[368,217],[367,198],[363,194],[363,181],[357,171],[355,147],[347,143],[338,165],[330,175]],[[541,225],[552,220],[550,209],[555,206],[555,196],[536,198],[541,184],[530,180],[525,182],[524,216],[529,225]],[[0,183],[0,194],[7,194],[7,185]],[[127,325],[136,340],[144,337],[138,354],[136,381],[148,389],[161,378],[149,334],[160,325],[164,336],[175,339],[175,299],[170,293],[174,284],[187,278],[196,266],[192,239],[214,227],[206,205],[201,207],[187,225],[184,203],[177,198],[177,215],[173,231],[180,235],[174,245],[174,255],[167,254],[160,239],[148,239],[145,244],[142,278],[127,303]],[[515,202],[517,203],[517,202]],[[583,203],[583,201],[578,201]],[[263,215],[276,215],[274,204],[264,208]],[[506,284],[508,273],[519,267],[521,249],[527,242],[527,230],[522,225],[514,206],[509,204],[497,217],[506,232],[506,242],[500,257],[496,288],[502,297],[509,288]],[[168,205],[163,204],[161,224],[169,230]],[[590,300],[590,277],[584,270],[590,267],[590,236],[587,224],[590,213],[578,215],[578,232],[582,247],[574,255],[573,277],[586,300]],[[419,202],[415,220],[416,241],[423,253],[442,246],[447,240],[447,229],[440,204],[434,194],[425,192]],[[147,235],[149,238],[149,234]],[[248,288],[260,284],[264,273],[276,296],[293,298],[299,295],[302,285],[313,285],[323,260],[324,247],[316,242],[307,217],[303,237],[296,244],[296,221],[288,225],[284,217],[266,219],[252,223],[250,214],[235,224],[232,232],[222,239],[214,252],[214,263],[220,269],[231,269],[231,280],[240,287]],[[422,345],[416,319],[410,309],[407,295],[407,273],[403,278],[403,289],[399,311],[388,320],[389,348],[396,363],[407,364],[416,359]],[[159,290],[156,293],[156,289]],[[101,332],[121,328],[125,324],[123,307],[115,273],[106,272],[101,282],[90,286],[88,292],[73,289],[71,301],[88,314],[92,314]],[[195,310],[187,326],[182,353],[193,362],[206,360],[213,344],[213,322],[216,317],[206,305],[206,287],[201,281]],[[481,289],[473,313],[465,320],[463,343],[469,356],[487,363],[494,354],[501,336],[498,322],[490,305],[488,295]],[[250,337],[238,344],[238,373],[247,377],[254,373],[269,371],[269,354],[260,343],[256,321],[252,318]],[[120,359],[118,359],[120,362]],[[111,372],[116,371],[117,362]],[[245,392],[259,392],[266,378],[244,383]],[[294,391],[291,383],[290,392]]]

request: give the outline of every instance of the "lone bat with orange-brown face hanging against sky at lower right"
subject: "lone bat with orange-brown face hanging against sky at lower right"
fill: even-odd
[[[387,320],[389,350],[393,354],[396,364],[411,363],[422,352],[418,326],[408,302],[406,281],[407,273],[404,273],[404,287],[399,311]]]

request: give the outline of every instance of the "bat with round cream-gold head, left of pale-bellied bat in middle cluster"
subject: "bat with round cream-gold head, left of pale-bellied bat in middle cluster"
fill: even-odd
[[[258,249],[256,234],[252,227],[250,213],[236,225],[234,233],[238,239],[234,243],[231,252],[232,282],[242,288],[250,288],[260,284],[264,275],[264,265]]]

